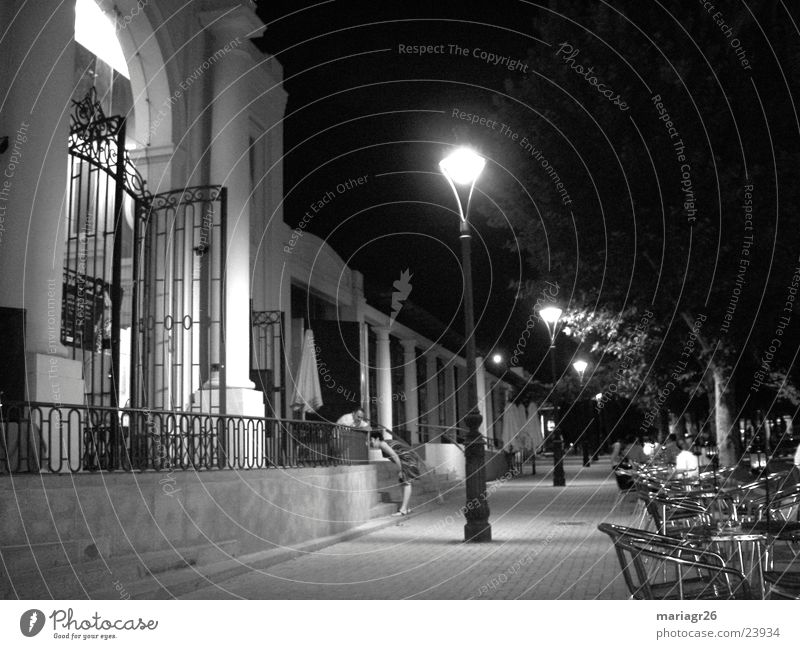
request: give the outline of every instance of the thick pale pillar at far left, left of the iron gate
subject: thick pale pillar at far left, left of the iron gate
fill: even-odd
[[[74,3],[4,11],[10,22],[0,63],[0,135],[8,137],[0,154],[0,306],[26,311],[26,397],[82,403],[82,363],[68,359],[61,344],[59,224],[67,207]]]

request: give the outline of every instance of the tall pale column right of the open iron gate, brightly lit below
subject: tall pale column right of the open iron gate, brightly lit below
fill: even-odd
[[[264,416],[263,396],[250,380],[250,145],[248,102],[255,65],[247,37],[258,19],[243,6],[203,14],[219,51],[213,66],[211,173],[228,189],[225,254],[225,387],[229,414]],[[230,46],[239,40],[239,44]]]

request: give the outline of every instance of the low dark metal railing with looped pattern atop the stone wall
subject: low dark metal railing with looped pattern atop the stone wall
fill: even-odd
[[[0,405],[0,473],[193,471],[367,462],[326,422],[25,402]]]

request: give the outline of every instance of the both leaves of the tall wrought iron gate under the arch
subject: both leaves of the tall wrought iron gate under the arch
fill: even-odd
[[[225,188],[151,195],[92,88],[74,102],[68,200],[61,341],[86,404],[224,413]]]

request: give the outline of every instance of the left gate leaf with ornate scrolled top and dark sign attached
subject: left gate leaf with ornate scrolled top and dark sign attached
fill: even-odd
[[[74,102],[61,342],[83,362],[86,402],[128,400],[133,228],[148,200],[125,150],[125,119],[106,117],[92,88]]]

